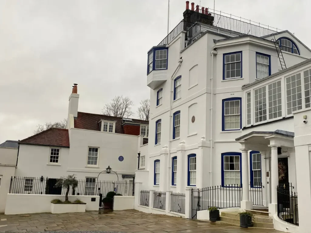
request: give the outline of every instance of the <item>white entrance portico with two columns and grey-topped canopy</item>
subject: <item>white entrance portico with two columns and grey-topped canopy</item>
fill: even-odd
[[[273,216],[277,213],[277,186],[279,185],[279,171],[278,171],[278,148],[288,148],[291,151],[294,148],[294,133],[284,130],[276,131],[253,131],[243,135],[237,139],[241,144],[242,151],[242,191],[243,200],[241,201],[242,209],[252,209],[253,203],[249,201],[249,180],[248,180],[248,151],[255,150],[264,154],[264,158],[269,158],[271,154],[271,169],[266,167],[266,171],[262,171],[264,176],[267,177],[267,186],[270,186],[269,202],[269,215]],[[270,174],[269,174],[270,173]],[[270,179],[269,179],[270,178]],[[271,182],[271,184],[269,184]]]

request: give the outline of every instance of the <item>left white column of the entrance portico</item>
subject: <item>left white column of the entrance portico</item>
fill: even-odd
[[[248,179],[248,149],[242,151],[242,193],[241,209],[252,209],[253,203],[249,201],[249,179]]]

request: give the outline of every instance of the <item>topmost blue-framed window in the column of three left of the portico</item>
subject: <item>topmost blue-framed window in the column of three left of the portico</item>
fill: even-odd
[[[242,77],[242,51],[224,53],[222,79],[236,79]]]

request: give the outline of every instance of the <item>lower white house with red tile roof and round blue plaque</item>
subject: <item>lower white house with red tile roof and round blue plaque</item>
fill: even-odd
[[[51,128],[18,141],[15,157],[8,148],[0,148],[1,199],[9,192],[64,194],[54,188],[56,179],[71,174],[81,181],[77,195],[105,194],[116,187],[123,195],[132,195],[137,153],[144,158],[147,151],[148,121],[78,112],[78,101],[75,84],[67,129]],[[108,166],[113,172],[102,172]]]

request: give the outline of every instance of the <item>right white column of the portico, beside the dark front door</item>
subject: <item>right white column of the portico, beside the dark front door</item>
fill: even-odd
[[[269,145],[271,147],[271,204],[269,204],[269,216],[277,213],[277,185],[279,185],[279,167],[277,161],[278,145]]]

